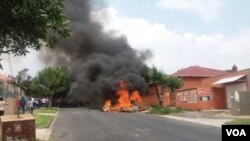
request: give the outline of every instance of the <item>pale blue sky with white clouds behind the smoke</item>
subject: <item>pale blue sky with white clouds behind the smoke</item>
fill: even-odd
[[[101,0],[96,0],[101,1]],[[147,64],[167,74],[189,66],[227,70],[250,68],[249,0],[107,0],[91,17],[104,32],[126,36],[135,50],[153,53]],[[38,52],[10,57],[12,74],[43,68]],[[9,60],[2,57],[10,74]]]

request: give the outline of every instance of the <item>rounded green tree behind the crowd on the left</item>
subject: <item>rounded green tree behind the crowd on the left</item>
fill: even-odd
[[[65,67],[48,67],[33,78],[31,89],[38,96],[55,97],[66,96],[69,91],[69,71]]]

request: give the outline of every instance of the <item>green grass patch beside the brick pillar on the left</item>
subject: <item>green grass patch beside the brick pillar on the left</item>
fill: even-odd
[[[48,128],[54,116],[52,115],[35,115],[36,128]]]

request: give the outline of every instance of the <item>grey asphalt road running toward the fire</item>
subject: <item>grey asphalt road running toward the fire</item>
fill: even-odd
[[[62,109],[51,141],[220,141],[221,129],[143,113]]]

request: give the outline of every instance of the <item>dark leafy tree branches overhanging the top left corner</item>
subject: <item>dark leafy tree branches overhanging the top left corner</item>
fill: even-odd
[[[0,55],[26,55],[69,36],[63,0],[1,0]]]

